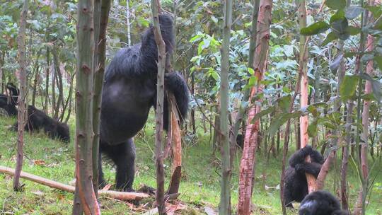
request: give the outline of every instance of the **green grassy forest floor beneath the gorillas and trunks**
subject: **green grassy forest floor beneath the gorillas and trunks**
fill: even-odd
[[[8,127],[16,119],[0,117],[0,165],[14,168],[16,163],[16,132]],[[154,122],[152,115],[149,122]],[[71,123],[71,143],[63,144],[48,139],[45,134],[25,135],[25,160],[23,170],[51,180],[69,184],[74,179],[74,122]],[[193,139],[193,140],[192,140]],[[141,185],[156,187],[154,165],[154,123],[148,123],[143,132],[134,139],[137,146],[136,178],[134,188]],[[289,152],[293,151],[291,147]],[[218,153],[218,152],[216,152]],[[254,214],[282,214],[279,200],[279,177],[282,156],[267,158],[264,152],[257,153],[255,189],[253,202]],[[232,203],[236,209],[238,199],[238,164],[241,153],[234,159],[235,168],[232,176]],[[214,209],[219,204],[220,173],[219,156],[212,156],[212,144],[209,134],[202,129],[195,138],[185,137],[183,143],[183,178],[180,184],[180,201],[183,210],[177,214],[204,214],[204,210]],[[372,163],[373,161],[370,160]],[[330,170],[325,182],[326,189],[335,192],[339,185],[340,161]],[[170,178],[171,165],[166,161],[166,181]],[[371,171],[374,185],[369,195],[366,214],[382,214],[382,164],[377,162]],[[112,165],[104,163],[105,179],[114,180],[115,170]],[[71,214],[73,194],[54,190],[35,182],[22,180],[23,192],[13,192],[12,178],[0,174],[0,214]],[[166,184],[166,187],[168,184]],[[359,180],[354,165],[349,162],[349,202],[357,199]],[[154,199],[146,199],[138,207],[127,202],[100,198],[103,214],[144,214]],[[288,211],[297,214],[296,210]]]

